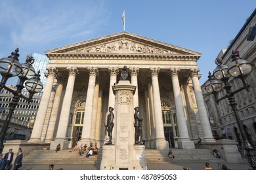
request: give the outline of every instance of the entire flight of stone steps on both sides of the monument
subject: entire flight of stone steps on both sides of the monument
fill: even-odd
[[[173,155],[175,159],[171,160],[168,157],[168,151],[158,151],[146,149],[146,162],[214,162],[224,163],[224,159],[217,159],[213,156],[213,152],[209,149],[192,149],[182,150],[173,148]],[[79,156],[77,152],[72,150],[61,150],[55,152],[54,150],[33,150],[24,156],[22,163],[24,164],[94,164],[100,165],[102,159],[102,151],[99,150],[98,157],[90,156],[85,158],[85,155]]]

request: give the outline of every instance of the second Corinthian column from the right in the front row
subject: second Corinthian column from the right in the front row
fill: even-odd
[[[190,141],[188,135],[188,126],[186,125],[186,118],[184,115],[184,106],[182,103],[181,97],[181,88],[179,84],[178,73],[180,69],[172,68],[170,69],[169,74],[171,75],[171,80],[173,82],[173,93],[175,98],[175,107],[176,107],[176,114],[177,114],[177,121],[178,121],[178,129],[179,129],[179,148],[195,148],[194,142]]]

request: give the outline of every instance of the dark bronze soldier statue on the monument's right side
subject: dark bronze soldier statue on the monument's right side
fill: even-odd
[[[135,119],[135,123],[134,123],[134,127],[135,127],[135,145],[141,145],[141,123],[143,118],[140,117],[140,108],[139,107],[135,107],[135,114],[134,114],[134,119]]]

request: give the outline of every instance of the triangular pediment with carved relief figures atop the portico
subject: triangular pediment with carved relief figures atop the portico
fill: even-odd
[[[169,54],[201,56],[198,52],[127,32],[62,46],[48,50],[45,54]]]

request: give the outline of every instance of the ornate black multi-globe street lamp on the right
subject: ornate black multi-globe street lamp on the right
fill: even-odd
[[[238,114],[238,109],[237,109],[238,104],[236,103],[236,100],[234,98],[234,94],[241,92],[244,89],[249,91],[250,86],[247,83],[246,78],[251,73],[253,69],[253,64],[244,59],[240,59],[238,51],[232,51],[232,61],[228,66],[223,65],[222,61],[219,59],[217,59],[215,62],[217,62],[218,66],[213,71],[213,75],[209,73],[209,76],[208,76],[209,80],[206,83],[205,90],[209,93],[213,93],[213,95],[215,96],[215,101],[217,102],[218,105],[219,105],[219,101],[223,99],[228,99],[229,105],[232,107],[232,110],[234,112],[234,116],[238,124],[238,129],[241,133],[242,144],[243,144],[242,147],[245,150],[245,157],[247,158],[249,166],[252,167],[253,170],[255,170],[256,157],[255,157],[255,154],[253,153],[253,146],[251,146],[251,144],[249,143],[249,140],[245,133],[244,126]],[[232,92],[231,91],[232,86],[228,82],[231,76],[235,78],[240,78],[244,86]],[[224,84],[224,86],[223,84],[221,84],[221,82]],[[221,91],[222,86],[224,90],[226,90],[226,95],[224,95],[219,99],[217,97],[217,93]]]

